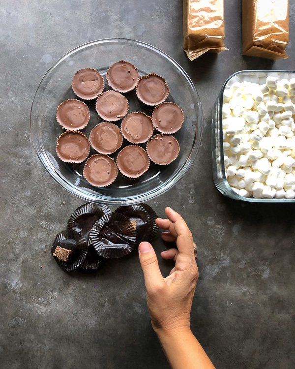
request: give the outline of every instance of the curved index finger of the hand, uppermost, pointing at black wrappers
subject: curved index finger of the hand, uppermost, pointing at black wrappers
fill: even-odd
[[[174,224],[174,229],[177,233],[176,244],[179,252],[194,258],[193,236],[184,219],[169,207],[165,209],[165,213],[167,218]]]

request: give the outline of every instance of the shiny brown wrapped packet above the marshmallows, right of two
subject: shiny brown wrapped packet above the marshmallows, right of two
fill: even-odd
[[[288,0],[242,0],[243,55],[289,58]]]

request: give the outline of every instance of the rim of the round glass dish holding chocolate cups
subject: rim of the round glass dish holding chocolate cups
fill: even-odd
[[[103,43],[109,43],[109,42],[127,42],[127,43],[135,43],[138,44],[142,47],[146,47],[149,50],[156,52],[157,54],[160,54],[162,57],[164,57],[166,60],[168,60],[169,62],[171,62],[182,74],[182,76],[186,79],[186,82],[189,84],[190,88],[191,88],[191,94],[193,96],[193,102],[194,105],[196,106],[196,102],[197,102],[197,107],[198,110],[196,110],[196,117],[197,117],[197,123],[196,123],[196,131],[195,131],[195,136],[194,136],[194,140],[193,140],[193,144],[192,144],[192,149],[191,152],[189,154],[189,156],[187,157],[184,165],[181,167],[181,169],[172,176],[172,178],[170,178],[169,181],[166,181],[167,183],[158,185],[157,187],[149,190],[147,193],[143,193],[140,195],[137,195],[136,197],[134,196],[126,196],[124,198],[112,198],[110,196],[97,196],[97,195],[92,195],[90,194],[87,190],[83,190],[82,188],[76,187],[74,184],[72,184],[71,182],[67,181],[66,178],[62,178],[59,175],[59,172],[51,166],[49,166],[49,162],[46,159],[47,155],[43,153],[42,147],[38,146],[38,142],[36,142],[37,140],[34,139],[36,133],[33,132],[33,108],[34,108],[34,103],[36,100],[36,97],[38,95],[39,89],[43,83],[43,80],[45,79],[46,76],[48,76],[56,66],[59,65],[59,63],[61,63],[64,59],[66,59],[67,57],[73,55],[74,53],[76,53],[79,50],[83,50],[84,48],[87,48],[89,46],[92,45],[98,45],[98,44],[103,44]],[[68,192],[74,194],[77,197],[80,197],[81,199],[90,201],[90,202],[94,202],[94,203],[100,203],[100,204],[109,204],[109,205],[127,205],[127,204],[135,204],[138,202],[144,202],[144,201],[148,201],[151,200],[152,198],[155,198],[156,196],[163,194],[165,192],[167,192],[170,188],[172,188],[175,184],[177,184],[180,179],[184,176],[184,174],[188,171],[188,169],[192,166],[198,152],[201,146],[201,141],[202,141],[202,136],[203,136],[203,126],[204,126],[204,116],[203,116],[203,110],[202,110],[202,105],[201,105],[201,100],[199,97],[199,94],[195,88],[195,85],[193,84],[191,78],[188,76],[188,74],[185,72],[185,70],[173,59],[171,58],[168,54],[166,54],[165,52],[161,51],[160,49],[146,43],[143,41],[138,41],[138,40],[133,40],[133,39],[129,39],[129,38],[103,38],[103,39],[99,39],[99,40],[93,40],[93,41],[89,41],[85,44],[79,45],[73,49],[71,49],[70,51],[68,51],[67,53],[65,53],[62,57],[60,57],[49,69],[48,71],[44,74],[44,76],[42,77],[37,90],[34,94],[33,100],[32,100],[32,105],[31,105],[31,109],[30,109],[30,120],[29,120],[29,126],[30,126],[30,135],[31,135],[31,139],[32,139],[32,143],[33,143],[33,147],[35,149],[35,152],[39,158],[39,160],[41,161],[41,163],[43,164],[44,168],[46,169],[46,171],[49,173],[49,175],[65,190],[67,190]],[[197,140],[197,138],[199,137],[199,141]]]

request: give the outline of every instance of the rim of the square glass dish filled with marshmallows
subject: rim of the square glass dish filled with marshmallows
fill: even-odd
[[[223,135],[222,135],[222,107],[223,107],[223,93],[224,90],[226,88],[227,83],[236,75],[238,74],[242,74],[242,73],[295,73],[295,70],[284,70],[284,69],[245,69],[245,70],[238,70],[237,72],[233,73],[232,75],[230,75],[227,80],[224,82],[221,91],[220,91],[220,102],[219,102],[219,111],[220,111],[220,115],[219,115],[219,127],[220,132],[219,132],[219,140],[220,142],[223,142]],[[254,197],[243,197],[241,195],[239,195],[238,193],[236,193],[232,187],[229,185],[226,177],[225,177],[225,166],[224,166],[224,151],[223,151],[223,145],[220,145],[220,164],[221,164],[221,171],[222,171],[222,181],[224,182],[228,193],[229,193],[229,197],[231,197],[232,199],[235,200],[241,200],[241,201],[246,201],[246,202],[261,202],[261,203],[287,203],[287,202],[295,202],[295,199],[255,199]]]

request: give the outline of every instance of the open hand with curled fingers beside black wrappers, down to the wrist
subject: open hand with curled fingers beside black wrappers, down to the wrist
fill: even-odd
[[[154,249],[148,242],[139,245],[139,258],[144,272],[148,311],[156,333],[190,330],[190,311],[199,273],[195,260],[192,234],[183,218],[166,208],[168,219],[156,219],[162,239],[176,242],[177,248],[161,252],[164,259],[173,259],[175,267],[162,277]]]

